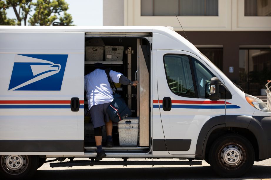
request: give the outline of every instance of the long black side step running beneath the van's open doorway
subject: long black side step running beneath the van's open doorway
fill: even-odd
[[[201,161],[93,161],[76,160],[67,162],[50,163],[50,167],[73,166],[127,166],[127,165],[202,165]]]

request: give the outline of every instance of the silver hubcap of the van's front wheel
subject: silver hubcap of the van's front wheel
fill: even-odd
[[[220,164],[227,169],[239,168],[245,160],[245,150],[241,145],[229,143],[220,149]]]

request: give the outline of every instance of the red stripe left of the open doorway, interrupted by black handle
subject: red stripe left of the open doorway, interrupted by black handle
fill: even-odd
[[[84,101],[80,100],[79,103],[84,104]],[[71,104],[71,100],[11,100],[0,101],[0,104]]]

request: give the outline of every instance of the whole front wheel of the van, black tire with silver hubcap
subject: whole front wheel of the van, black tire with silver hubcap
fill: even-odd
[[[220,176],[236,178],[253,166],[255,152],[244,136],[226,134],[215,140],[210,148],[209,162]]]

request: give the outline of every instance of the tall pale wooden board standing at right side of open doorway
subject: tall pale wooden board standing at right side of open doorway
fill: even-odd
[[[149,72],[140,45],[138,50],[139,145],[149,146]]]

